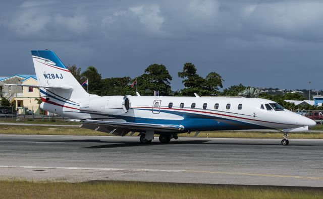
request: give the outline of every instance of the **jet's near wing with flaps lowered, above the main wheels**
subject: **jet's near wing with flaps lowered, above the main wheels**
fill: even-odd
[[[130,131],[146,131],[154,130],[159,132],[174,132],[184,130],[183,125],[173,124],[152,124],[152,123],[135,123],[135,122],[119,122],[119,121],[100,121],[85,119],[81,120],[83,124],[82,128],[88,128],[92,130],[109,132],[117,136],[125,136]]]

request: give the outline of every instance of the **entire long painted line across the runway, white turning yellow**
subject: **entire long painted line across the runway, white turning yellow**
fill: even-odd
[[[117,168],[94,168],[94,167],[43,167],[43,166],[5,166],[5,165],[0,165],[0,168],[72,169],[72,170],[137,171],[137,172],[185,172],[185,173],[226,174],[226,175],[244,175],[244,176],[261,176],[261,177],[278,177],[278,178],[298,178],[298,179],[310,179],[310,180],[323,180],[323,177],[276,175],[276,174],[259,174],[259,173],[240,173],[240,172],[223,172],[223,171],[171,170],[171,169],[117,169]]]

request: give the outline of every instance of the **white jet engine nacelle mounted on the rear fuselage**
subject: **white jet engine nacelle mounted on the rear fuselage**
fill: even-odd
[[[80,104],[82,112],[101,112],[111,115],[122,115],[130,110],[130,99],[127,96],[104,96],[89,99]]]

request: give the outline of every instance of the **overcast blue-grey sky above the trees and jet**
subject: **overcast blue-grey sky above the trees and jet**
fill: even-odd
[[[323,1],[3,1],[0,76],[34,74],[31,49],[52,49],[103,78],[164,64],[181,89],[184,62],[229,87],[323,89]]]

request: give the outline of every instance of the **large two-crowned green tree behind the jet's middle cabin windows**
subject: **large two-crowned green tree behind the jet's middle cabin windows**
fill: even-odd
[[[178,72],[178,77],[184,79],[182,83],[185,88],[180,91],[182,96],[194,96],[194,93],[214,96],[219,94],[219,87],[223,88],[223,79],[218,73],[211,72],[204,79],[196,73],[195,65],[189,62],[184,63],[183,71]]]

